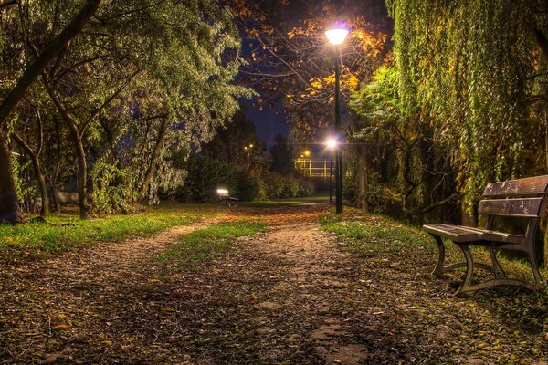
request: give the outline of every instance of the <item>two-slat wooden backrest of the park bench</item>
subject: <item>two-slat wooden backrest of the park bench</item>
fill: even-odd
[[[479,214],[542,218],[546,215],[548,175],[489,183]]]

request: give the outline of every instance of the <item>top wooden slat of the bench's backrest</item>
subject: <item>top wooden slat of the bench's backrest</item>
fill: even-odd
[[[548,175],[507,182],[488,183],[483,191],[486,198],[543,195],[548,189]]]

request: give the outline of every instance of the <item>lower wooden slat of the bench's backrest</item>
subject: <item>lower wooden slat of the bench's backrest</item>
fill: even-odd
[[[522,199],[490,199],[479,202],[479,214],[535,218],[543,214],[543,197]]]

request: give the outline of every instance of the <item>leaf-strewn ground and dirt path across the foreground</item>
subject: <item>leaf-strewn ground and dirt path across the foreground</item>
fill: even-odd
[[[548,363],[548,292],[452,297],[461,273],[429,275],[417,228],[313,201],[161,221],[69,251],[2,247],[0,363]]]

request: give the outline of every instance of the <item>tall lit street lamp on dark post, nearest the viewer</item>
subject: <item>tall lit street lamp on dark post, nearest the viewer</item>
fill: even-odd
[[[348,30],[342,28],[330,29],[325,32],[325,36],[329,40],[329,43],[335,46],[335,133],[337,138],[342,137],[341,132],[341,49],[339,45],[342,45],[344,39],[348,35]],[[342,151],[341,146],[335,150],[335,197],[336,197],[336,212],[342,213]]]

